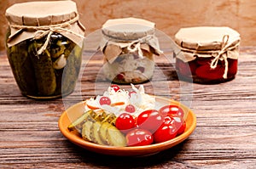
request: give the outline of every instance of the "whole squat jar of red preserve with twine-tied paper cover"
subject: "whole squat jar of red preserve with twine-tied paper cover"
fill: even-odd
[[[179,78],[199,83],[227,82],[235,78],[240,34],[229,27],[182,28],[175,35],[181,48],[176,56]]]

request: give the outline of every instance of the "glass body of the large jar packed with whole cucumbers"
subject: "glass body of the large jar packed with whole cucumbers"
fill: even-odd
[[[33,99],[67,96],[73,92],[79,76],[82,48],[67,37],[53,33],[47,48],[38,54],[46,37],[26,39],[7,47],[15,81],[21,93]]]

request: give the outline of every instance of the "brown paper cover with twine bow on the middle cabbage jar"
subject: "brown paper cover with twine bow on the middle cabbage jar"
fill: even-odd
[[[126,48],[130,53],[138,53],[143,58],[143,50],[160,55],[158,38],[154,35],[154,23],[137,18],[107,20],[102,25],[100,48],[110,63]],[[109,53],[109,54],[108,54]]]

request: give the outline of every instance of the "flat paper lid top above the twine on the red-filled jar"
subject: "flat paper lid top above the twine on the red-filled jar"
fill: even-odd
[[[240,34],[229,27],[199,26],[182,28],[175,35],[180,47],[195,50],[220,50],[224,41],[234,46],[240,42]]]

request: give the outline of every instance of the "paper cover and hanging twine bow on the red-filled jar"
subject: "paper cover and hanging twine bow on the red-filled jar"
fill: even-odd
[[[227,79],[228,59],[238,59],[240,34],[229,27],[200,26],[182,28],[175,35],[175,42],[181,48],[177,59],[188,63],[197,58],[212,58],[210,68],[216,69],[218,60],[224,60],[223,78]]]

